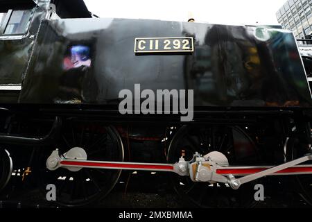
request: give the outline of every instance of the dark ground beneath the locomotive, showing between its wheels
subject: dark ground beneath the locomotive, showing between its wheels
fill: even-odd
[[[12,184],[15,183],[15,185]],[[265,199],[257,208],[311,207],[291,186],[291,178],[267,177],[263,182]],[[31,182],[22,183],[13,176],[0,194],[0,208],[57,207],[44,199]],[[193,207],[177,195],[168,181],[168,173],[123,172],[111,193],[91,207],[103,208],[183,208]]]

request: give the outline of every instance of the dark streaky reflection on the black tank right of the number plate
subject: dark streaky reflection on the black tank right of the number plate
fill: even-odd
[[[291,36],[266,28],[212,26],[205,44],[185,61],[187,87],[195,90],[196,103],[300,105],[304,92],[297,86],[306,85],[306,78]]]

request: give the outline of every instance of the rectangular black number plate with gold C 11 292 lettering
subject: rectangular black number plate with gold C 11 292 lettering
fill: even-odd
[[[135,53],[190,53],[193,37],[137,37]]]

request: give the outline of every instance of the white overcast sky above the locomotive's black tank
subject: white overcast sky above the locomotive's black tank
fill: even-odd
[[[276,12],[286,0],[85,0],[100,17],[161,19],[211,24],[278,24]]]

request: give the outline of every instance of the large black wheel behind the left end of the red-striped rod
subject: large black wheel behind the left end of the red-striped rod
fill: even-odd
[[[87,160],[123,161],[123,145],[116,130],[111,127],[70,123],[62,128],[60,142],[54,148],[44,148],[38,155],[40,187],[46,193],[46,186],[55,185],[56,203],[67,207],[79,207],[96,203],[104,198],[114,187],[121,170],[68,169],[49,171],[46,158],[58,148],[64,154],[73,147],[80,147],[87,153]]]

